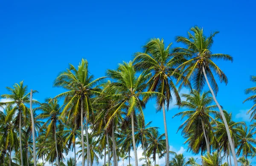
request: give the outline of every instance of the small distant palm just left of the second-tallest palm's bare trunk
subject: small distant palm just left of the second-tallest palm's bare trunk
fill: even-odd
[[[154,166],[156,166],[156,155],[165,151],[165,134],[160,135],[156,128],[151,128],[150,135],[148,135],[148,152],[153,154]]]

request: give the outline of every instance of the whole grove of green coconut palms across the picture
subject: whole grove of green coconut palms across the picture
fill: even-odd
[[[186,139],[188,151],[201,153],[204,166],[249,166],[247,157],[256,154],[254,127],[234,122],[232,114],[223,110],[216,100],[219,82],[228,83],[215,60],[233,61],[228,54],[212,54],[213,38],[203,29],[193,27],[189,37],[177,37],[184,47],[171,49],[160,39],[151,39],[145,52],[137,52],[130,62],[123,62],[116,70],[107,70],[106,77],[95,79],[89,73],[88,62],[82,59],[76,68],[71,65],[58,75],[54,87],[65,91],[45,103],[32,99],[37,91],[28,92],[23,81],[6,87],[9,94],[1,95],[0,103],[0,165],[44,165],[45,162],[61,166],[92,166],[104,158],[104,166],[117,166],[128,160],[129,166],[156,166],[164,158],[170,166],[198,166],[196,159],[186,158],[169,150],[166,111],[172,101],[186,109],[175,116],[184,122],[178,130]],[[256,77],[252,77],[256,82]],[[209,91],[204,91],[207,84]],[[182,94],[180,89],[191,90]],[[253,93],[249,110],[251,120],[256,119],[256,87],[246,89]],[[185,100],[181,100],[184,97]],[[165,133],[160,134],[151,122],[145,123],[143,109],[148,100],[157,103],[157,112],[163,112]],[[245,102],[244,101],[244,102]],[[79,149],[76,147],[79,146]],[[143,150],[138,159],[137,149]],[[73,151],[73,158],[64,155]],[[12,156],[15,153],[15,157]],[[131,163],[134,153],[134,163]],[[170,156],[173,158],[170,160]],[[233,157],[233,162],[231,161]],[[239,160],[237,160],[239,156]],[[222,163],[223,159],[227,162]],[[42,163],[38,160],[41,159]],[[80,164],[80,163],[79,163]]]

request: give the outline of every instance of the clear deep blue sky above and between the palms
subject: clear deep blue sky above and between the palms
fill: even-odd
[[[59,72],[69,63],[77,66],[82,57],[89,61],[95,77],[129,61],[134,52],[152,37],[166,44],[177,35],[186,36],[192,26],[220,31],[213,53],[230,54],[234,62],[217,62],[227,74],[227,86],[219,84],[218,101],[233,112],[234,120],[247,120],[244,112],[252,103],[243,104],[244,89],[254,86],[249,76],[256,75],[255,2],[238,0],[183,1],[0,1],[0,94],[6,86],[21,80],[29,89],[38,90],[35,98],[43,102],[62,89],[52,88]],[[186,92],[186,90],[184,90]],[[154,102],[145,109],[146,121],[164,132],[162,113],[155,113]],[[184,139],[176,134],[179,112],[167,113],[169,142],[176,150]],[[248,121],[248,120],[247,120]],[[189,153],[188,153],[189,155]]]

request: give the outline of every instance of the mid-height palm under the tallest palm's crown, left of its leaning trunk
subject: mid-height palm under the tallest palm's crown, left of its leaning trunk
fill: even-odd
[[[209,97],[209,93],[208,91],[200,94],[199,91],[193,90],[191,94],[182,94],[182,97],[185,97],[186,101],[182,101],[180,107],[189,109],[189,111],[183,111],[174,115],[174,117],[181,115],[181,120],[184,117],[188,117],[178,128],[178,130],[183,129],[183,133],[188,133],[192,129],[193,124],[195,124],[195,121],[198,120],[201,123],[208,153],[210,153],[210,141],[209,135],[207,135],[209,131],[206,131],[205,126],[211,128],[210,122],[214,121],[214,118],[210,114],[217,114],[217,112],[213,110],[217,106],[211,105],[212,97]]]

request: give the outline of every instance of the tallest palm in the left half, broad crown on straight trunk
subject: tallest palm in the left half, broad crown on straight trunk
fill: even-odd
[[[76,69],[72,64],[70,64],[67,71],[62,72],[55,79],[54,86],[62,87],[67,90],[67,92],[58,94],[55,98],[65,97],[65,102],[67,103],[63,109],[61,116],[69,112],[68,117],[77,117],[80,114],[80,126],[81,126],[81,144],[82,144],[82,166],[84,166],[84,114],[86,116],[86,143],[89,143],[88,138],[88,123],[89,116],[92,114],[91,97],[96,94],[100,94],[100,89],[98,87],[99,81],[104,77],[93,80],[93,75],[89,74],[88,62],[85,59],[81,60],[78,69]],[[71,109],[72,108],[72,109]],[[79,112],[80,108],[80,112]],[[69,118],[68,118],[69,120]],[[89,149],[87,149],[89,153]],[[89,166],[89,160],[87,160],[87,166]]]

